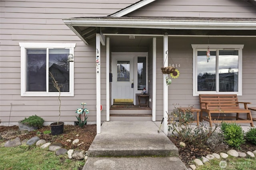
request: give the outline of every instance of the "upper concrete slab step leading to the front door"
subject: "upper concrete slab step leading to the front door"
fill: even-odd
[[[102,124],[88,156],[178,156],[178,148],[152,121],[110,121]]]

